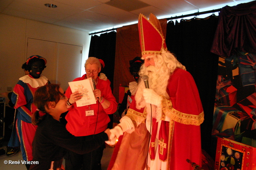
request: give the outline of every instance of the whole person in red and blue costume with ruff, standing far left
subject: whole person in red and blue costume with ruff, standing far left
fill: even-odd
[[[27,161],[33,159],[32,141],[37,126],[32,125],[31,117],[37,107],[33,104],[35,91],[46,84],[49,84],[48,78],[42,76],[44,68],[46,68],[46,59],[39,55],[28,57],[26,64],[29,74],[19,79],[14,86],[12,93],[12,103],[14,108],[18,109],[16,119],[16,130],[20,139],[20,150],[22,158]],[[26,164],[29,169],[30,164]]]

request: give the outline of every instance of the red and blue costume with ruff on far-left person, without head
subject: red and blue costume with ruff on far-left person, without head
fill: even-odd
[[[45,76],[33,78],[26,75],[20,78],[14,86],[12,102],[14,108],[18,109],[16,129],[20,140],[20,149],[24,160],[32,160],[32,142],[36,132],[35,125],[32,125],[31,117],[37,107],[33,104],[34,93],[40,86],[48,84]]]

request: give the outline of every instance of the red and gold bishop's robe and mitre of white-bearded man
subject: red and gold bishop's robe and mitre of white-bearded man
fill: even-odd
[[[140,14],[138,26],[142,55],[167,52],[160,23],[153,14],[150,20]],[[201,165],[200,124],[204,112],[193,77],[176,68],[166,92],[170,98],[161,96],[160,106],[147,104],[148,108],[137,109],[133,99],[126,116],[132,120],[135,131],[125,132],[122,142],[117,143],[109,170],[192,170],[186,159]],[[156,117],[152,117],[150,106],[153,112],[161,108],[155,112]]]

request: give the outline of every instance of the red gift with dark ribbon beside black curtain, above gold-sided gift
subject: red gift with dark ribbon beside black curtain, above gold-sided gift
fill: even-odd
[[[225,80],[223,76],[218,75],[216,84],[215,102],[225,104],[227,106],[233,106],[236,104],[236,92],[237,89],[232,86],[231,80]]]

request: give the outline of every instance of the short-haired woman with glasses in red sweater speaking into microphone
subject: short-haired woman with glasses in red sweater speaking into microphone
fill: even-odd
[[[85,72],[82,77],[76,78],[73,81],[84,80],[92,78],[95,81],[96,89],[93,90],[94,96],[97,99],[96,104],[88,106],[77,107],[76,101],[82,98],[78,92],[71,92],[70,87],[66,90],[66,97],[68,98],[68,114],[66,115],[67,125],[66,129],[76,137],[85,137],[92,139],[104,131],[108,127],[110,118],[108,114],[113,114],[117,109],[117,102],[112,94],[109,80],[102,80],[98,77],[101,70],[99,59],[89,57],[84,64]],[[88,114],[90,112],[90,114]],[[66,170],[100,170],[100,160],[103,155],[105,145],[101,145],[97,150],[87,154],[77,154],[68,151],[65,158]]]

